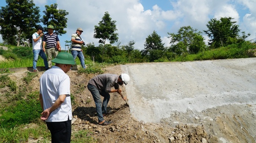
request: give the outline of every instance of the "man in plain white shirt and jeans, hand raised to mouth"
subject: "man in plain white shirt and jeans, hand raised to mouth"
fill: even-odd
[[[41,58],[44,60],[44,66],[45,70],[48,70],[48,63],[47,63],[47,57],[45,55],[45,49],[42,47],[42,36],[44,35],[44,29],[43,27],[39,26],[37,28],[37,32],[35,32],[32,35],[32,44],[33,44],[33,72],[37,72],[36,64],[38,60],[38,56],[40,55]]]

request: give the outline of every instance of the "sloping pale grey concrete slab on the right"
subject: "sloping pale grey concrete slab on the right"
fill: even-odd
[[[145,123],[173,112],[256,105],[256,58],[129,64],[121,70],[131,78],[125,86],[130,112]]]

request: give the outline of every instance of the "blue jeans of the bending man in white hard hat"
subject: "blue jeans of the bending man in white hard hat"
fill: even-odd
[[[107,113],[107,104],[109,103],[110,94],[105,92],[105,90],[98,90],[94,85],[88,84],[87,88],[92,93],[96,105],[96,113],[99,123],[104,120],[102,114]],[[103,103],[101,102],[100,95],[104,97]]]

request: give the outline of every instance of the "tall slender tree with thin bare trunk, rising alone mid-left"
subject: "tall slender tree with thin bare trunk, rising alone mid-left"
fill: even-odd
[[[113,44],[118,40],[118,33],[115,33],[115,31],[117,31],[116,21],[111,21],[109,13],[105,12],[102,20],[99,22],[99,25],[94,26],[94,38],[99,39],[99,43],[103,44],[102,62],[106,40],[108,39],[110,44]]]

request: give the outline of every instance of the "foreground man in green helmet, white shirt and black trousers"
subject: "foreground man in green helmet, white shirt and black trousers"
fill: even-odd
[[[70,53],[60,52],[52,62],[55,66],[40,77],[41,120],[51,132],[52,143],[70,143],[72,107],[70,78],[66,73],[75,61]]]

